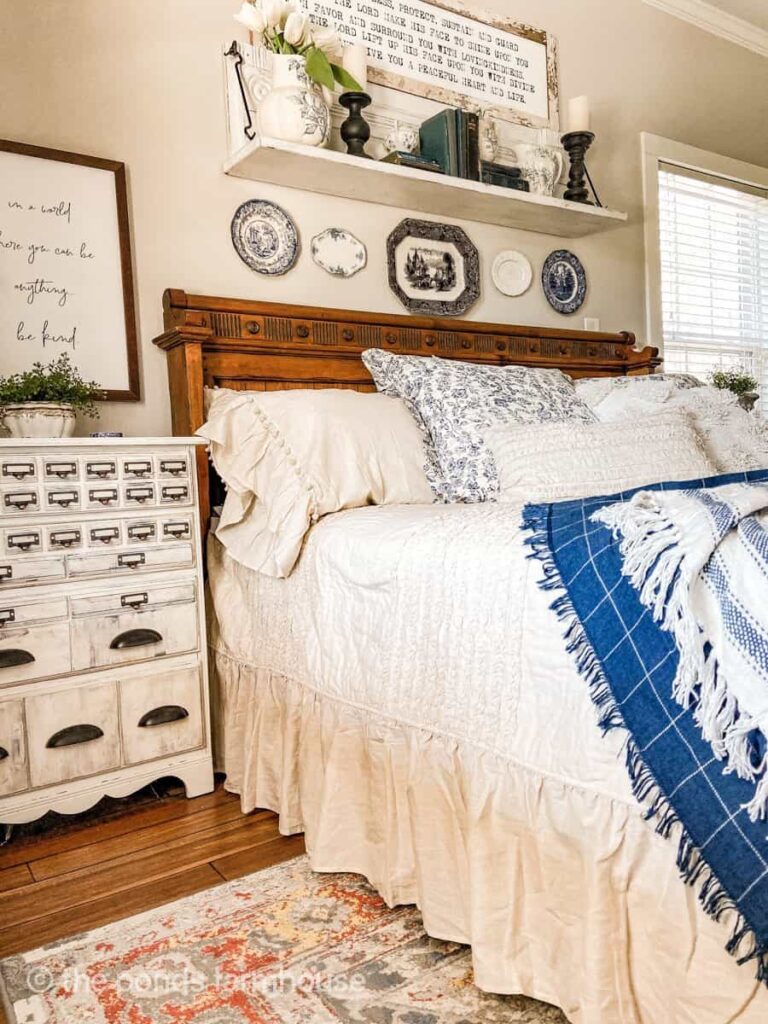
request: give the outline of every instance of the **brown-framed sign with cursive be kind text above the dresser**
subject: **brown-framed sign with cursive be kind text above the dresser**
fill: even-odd
[[[140,397],[125,165],[0,140],[0,374],[61,352]]]

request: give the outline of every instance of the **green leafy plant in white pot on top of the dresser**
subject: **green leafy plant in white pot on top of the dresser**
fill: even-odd
[[[11,437],[71,437],[77,413],[98,416],[103,391],[62,352],[47,366],[0,377],[0,419]]]

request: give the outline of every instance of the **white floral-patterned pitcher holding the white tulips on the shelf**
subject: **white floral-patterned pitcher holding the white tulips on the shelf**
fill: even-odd
[[[258,128],[268,138],[328,145],[331,111],[323,90],[307,75],[304,57],[272,54],[272,87],[259,104]]]

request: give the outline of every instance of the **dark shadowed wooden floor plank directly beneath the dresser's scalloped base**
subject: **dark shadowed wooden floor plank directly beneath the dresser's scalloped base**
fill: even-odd
[[[239,806],[240,798],[226,793],[223,786],[219,785],[213,793],[196,797],[194,800],[180,796],[176,799],[159,800],[157,803],[142,805],[137,809],[131,809],[127,801],[125,813],[106,821],[82,826],[73,819],[72,827],[61,834],[56,833],[50,837],[14,838],[8,846],[0,849],[0,869],[52,857],[68,850],[77,850],[87,843],[100,843],[116,836],[130,835],[136,829],[146,828],[163,821],[188,818],[221,804]]]

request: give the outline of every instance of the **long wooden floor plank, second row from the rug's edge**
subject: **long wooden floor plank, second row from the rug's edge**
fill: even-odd
[[[46,879],[0,894],[4,928],[37,921],[68,907],[115,895],[143,882],[167,878],[278,836],[276,817],[240,817],[200,835],[184,836],[137,855],[117,857],[96,867]]]

